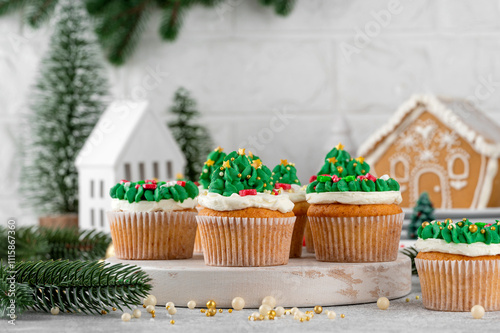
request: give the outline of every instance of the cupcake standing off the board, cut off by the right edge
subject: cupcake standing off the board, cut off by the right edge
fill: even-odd
[[[418,228],[415,265],[424,306],[470,311],[478,304],[500,310],[500,222],[424,222]]]

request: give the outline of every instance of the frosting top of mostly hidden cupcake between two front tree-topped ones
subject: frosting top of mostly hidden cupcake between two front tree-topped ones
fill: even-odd
[[[274,188],[287,195],[294,203],[306,200],[306,189],[305,186],[301,186],[297,177],[295,163],[281,160],[273,169],[271,183],[274,183]]]

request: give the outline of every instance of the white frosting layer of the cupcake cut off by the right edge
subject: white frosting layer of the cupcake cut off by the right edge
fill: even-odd
[[[420,252],[441,252],[450,254],[460,254],[467,257],[495,256],[500,254],[500,244],[484,244],[481,242],[466,243],[446,243],[444,239],[419,238],[415,247]]]

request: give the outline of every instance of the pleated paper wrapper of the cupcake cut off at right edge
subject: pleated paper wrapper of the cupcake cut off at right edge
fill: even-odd
[[[470,311],[481,305],[500,310],[500,260],[426,260],[415,258],[422,302],[431,310]]]

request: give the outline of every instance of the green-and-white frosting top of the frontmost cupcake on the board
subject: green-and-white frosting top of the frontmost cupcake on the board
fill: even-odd
[[[218,211],[266,208],[287,213],[293,210],[290,199],[273,189],[271,170],[261,160],[241,148],[229,153],[212,173],[208,193],[200,195],[201,206]]]

